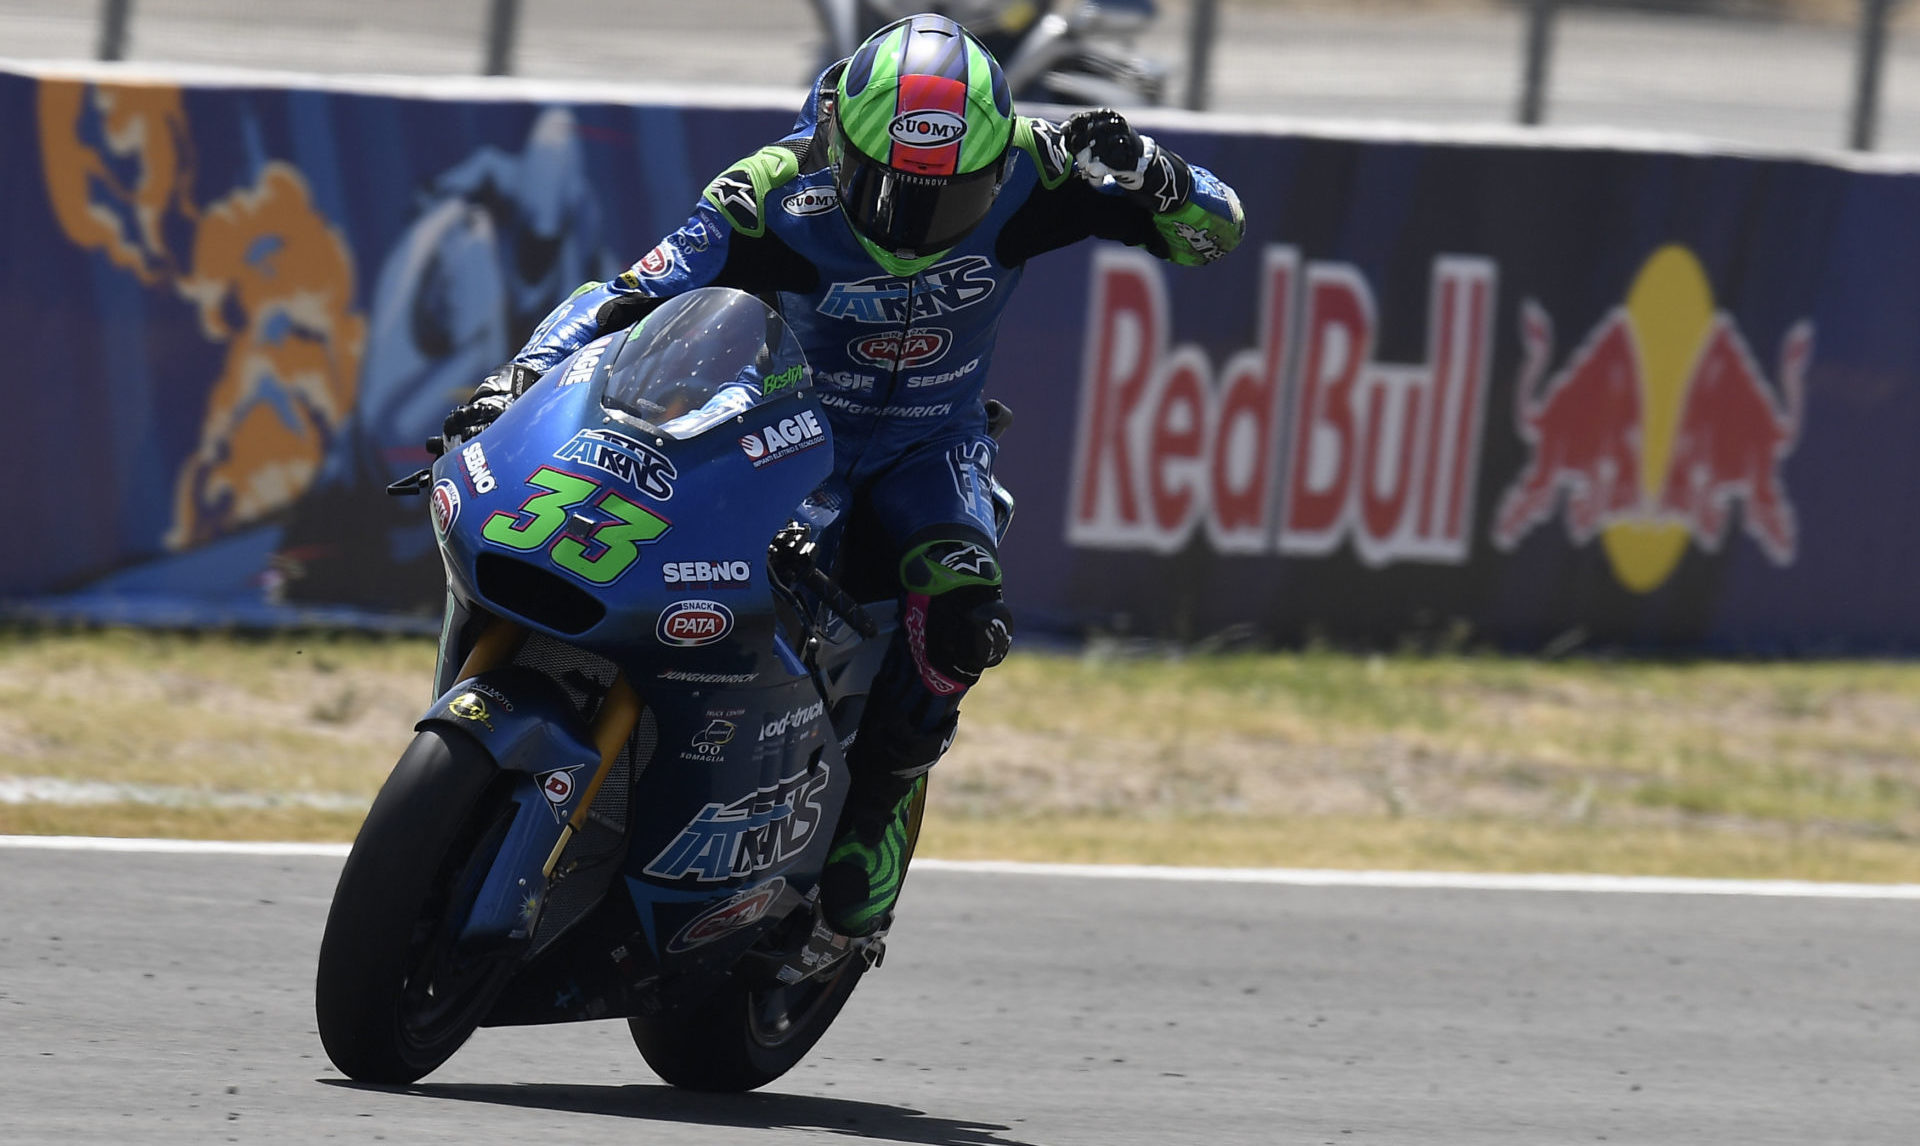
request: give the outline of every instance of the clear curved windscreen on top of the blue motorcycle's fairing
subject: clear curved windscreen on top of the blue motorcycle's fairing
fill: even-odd
[[[684,442],[810,386],[812,367],[785,319],[751,294],[703,286],[628,332],[601,407]]]

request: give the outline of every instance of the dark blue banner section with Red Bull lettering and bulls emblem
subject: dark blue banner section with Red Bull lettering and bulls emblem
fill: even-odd
[[[1021,422],[1002,451],[1023,601],[1179,639],[1920,647],[1920,175],[1162,138],[1250,234],[1198,271],[1035,269],[1033,317],[1079,330],[1029,359],[1071,405],[1008,395],[1071,443],[1035,466]]]

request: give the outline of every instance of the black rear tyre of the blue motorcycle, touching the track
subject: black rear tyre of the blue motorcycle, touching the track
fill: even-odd
[[[653,1073],[687,1090],[753,1090],[793,1069],[828,1033],[860,983],[866,960],[849,954],[822,979],[720,989],[705,1004],[628,1019]]]

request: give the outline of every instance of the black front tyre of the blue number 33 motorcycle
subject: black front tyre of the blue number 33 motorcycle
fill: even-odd
[[[470,737],[426,729],[394,766],[340,871],[315,1015],[349,1079],[413,1083],[447,1062],[513,977],[455,946],[513,824],[511,777]]]

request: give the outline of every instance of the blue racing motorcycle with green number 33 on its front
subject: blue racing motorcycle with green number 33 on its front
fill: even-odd
[[[816,883],[895,609],[829,576],[858,547],[831,459],[793,332],[707,288],[396,484],[428,493],[447,616],[321,941],[348,1077],[626,1017],[668,1083],[747,1090],[826,1033],[885,948]]]

